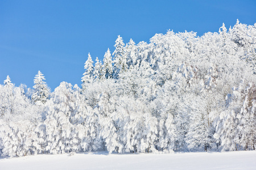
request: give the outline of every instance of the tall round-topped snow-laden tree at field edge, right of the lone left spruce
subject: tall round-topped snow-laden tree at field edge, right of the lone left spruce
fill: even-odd
[[[75,126],[71,115],[75,111],[75,96],[72,85],[62,82],[55,88],[52,98],[47,102],[46,151],[51,154],[79,151],[75,138]]]

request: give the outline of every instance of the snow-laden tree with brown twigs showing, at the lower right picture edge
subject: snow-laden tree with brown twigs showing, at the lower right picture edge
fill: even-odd
[[[255,82],[254,82],[255,83]],[[255,86],[243,80],[226,96],[226,110],[214,122],[222,150],[254,150]]]

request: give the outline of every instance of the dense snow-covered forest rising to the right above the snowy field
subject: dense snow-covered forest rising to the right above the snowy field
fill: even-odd
[[[256,24],[115,41],[82,88],[0,85],[0,154],[255,150]]]

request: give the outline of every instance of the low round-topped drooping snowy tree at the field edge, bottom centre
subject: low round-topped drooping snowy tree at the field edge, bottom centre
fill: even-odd
[[[121,143],[126,152],[154,152],[158,128],[158,121],[148,112],[146,105],[133,97],[122,97],[119,100],[118,131]],[[115,121],[118,118],[114,118]],[[121,125],[121,126],[120,126]]]

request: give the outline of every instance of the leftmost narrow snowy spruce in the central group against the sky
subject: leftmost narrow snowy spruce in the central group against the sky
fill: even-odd
[[[88,83],[92,83],[93,81],[93,61],[92,61],[92,57],[90,57],[90,53],[88,54],[88,59],[86,60],[86,62],[84,63],[84,69],[85,72],[84,76],[82,76],[82,90],[85,90],[86,88],[86,84]]]

